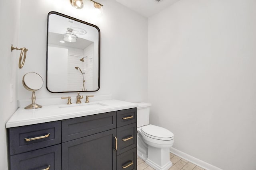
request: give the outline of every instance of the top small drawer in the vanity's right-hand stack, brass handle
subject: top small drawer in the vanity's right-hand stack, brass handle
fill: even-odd
[[[117,127],[137,122],[137,107],[117,111]]]

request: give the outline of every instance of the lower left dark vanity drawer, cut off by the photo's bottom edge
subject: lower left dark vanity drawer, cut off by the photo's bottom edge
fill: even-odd
[[[47,168],[61,170],[61,144],[10,156],[10,170],[46,170]]]

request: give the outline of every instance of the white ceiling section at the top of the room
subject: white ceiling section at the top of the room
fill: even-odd
[[[164,8],[174,4],[178,0],[116,0],[120,4],[127,6],[133,11],[138,12],[142,16],[150,17],[157,14]]]

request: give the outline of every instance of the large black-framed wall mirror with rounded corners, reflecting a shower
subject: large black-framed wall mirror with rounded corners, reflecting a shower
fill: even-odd
[[[52,93],[100,89],[100,29],[58,12],[47,21],[46,89]]]

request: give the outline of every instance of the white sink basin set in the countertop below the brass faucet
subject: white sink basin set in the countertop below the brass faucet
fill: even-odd
[[[107,106],[106,104],[102,103],[83,103],[83,104],[69,104],[69,105],[62,105],[59,106],[60,109],[65,111],[88,111],[94,109],[101,109],[102,107]]]

